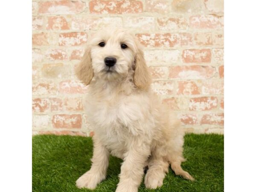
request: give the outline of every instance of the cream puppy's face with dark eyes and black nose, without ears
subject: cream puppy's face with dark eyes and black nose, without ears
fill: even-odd
[[[114,81],[128,75],[137,51],[131,34],[122,30],[101,31],[90,45],[94,76]]]

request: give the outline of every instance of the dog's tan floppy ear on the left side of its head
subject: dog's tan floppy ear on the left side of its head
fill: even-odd
[[[84,56],[80,61],[79,65],[76,67],[76,76],[81,80],[85,85],[90,84],[90,81],[93,79],[93,68],[92,68],[92,59],[90,54],[90,46],[88,46],[84,52]]]

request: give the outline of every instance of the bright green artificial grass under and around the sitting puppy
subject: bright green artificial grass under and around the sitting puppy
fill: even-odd
[[[76,180],[91,166],[93,144],[90,137],[37,135],[32,137],[33,192],[92,192],[76,188]],[[139,192],[221,192],[224,191],[224,136],[186,134],[182,163],[195,181],[176,176],[171,169],[163,186]],[[114,192],[122,160],[110,157],[107,178],[93,192]]]

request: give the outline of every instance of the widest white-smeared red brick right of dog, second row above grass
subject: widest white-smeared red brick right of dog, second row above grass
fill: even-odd
[[[216,97],[197,97],[190,98],[189,110],[190,111],[206,111],[217,108],[218,99]]]

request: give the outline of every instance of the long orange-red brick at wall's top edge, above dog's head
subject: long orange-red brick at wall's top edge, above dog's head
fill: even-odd
[[[97,14],[141,13],[143,3],[138,0],[91,0],[89,10]]]

